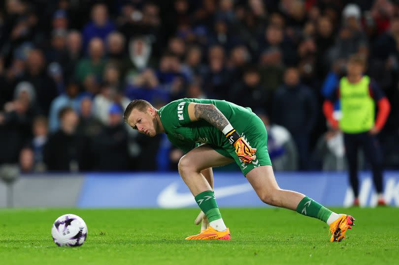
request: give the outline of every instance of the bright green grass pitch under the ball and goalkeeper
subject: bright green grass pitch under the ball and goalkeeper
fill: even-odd
[[[334,209],[356,226],[330,243],[321,221],[276,208],[222,209],[231,241],[186,241],[196,209],[0,209],[0,264],[398,264],[399,208]],[[61,248],[51,226],[74,213],[88,226],[81,247]]]

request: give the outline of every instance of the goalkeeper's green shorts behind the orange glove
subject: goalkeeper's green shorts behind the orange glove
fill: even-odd
[[[221,155],[229,158],[232,157],[244,176],[247,175],[247,173],[254,168],[257,168],[259,166],[271,165],[269,153],[267,151],[267,132],[265,124],[263,123],[261,118],[256,115],[251,116],[251,118],[245,122],[246,124],[249,124],[245,127],[245,129],[243,129],[242,131],[240,131],[239,128],[236,127],[235,129],[238,132],[241,132],[242,136],[251,147],[257,149],[255,152],[255,159],[251,163],[245,164],[244,162],[242,162],[238,158],[237,154],[235,153],[234,147],[230,143],[227,143],[223,147],[210,145],[210,147],[212,147]]]

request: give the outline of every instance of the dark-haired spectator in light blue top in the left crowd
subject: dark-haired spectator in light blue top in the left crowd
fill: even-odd
[[[59,95],[51,103],[49,113],[49,130],[55,132],[60,127],[59,112],[66,106],[71,107],[74,111],[79,109],[79,85],[75,82],[70,82],[66,86],[65,94]]]

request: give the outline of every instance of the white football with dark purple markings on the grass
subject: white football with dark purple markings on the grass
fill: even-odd
[[[75,214],[64,214],[55,220],[51,228],[54,243],[58,246],[81,246],[87,237],[87,226],[82,218]]]

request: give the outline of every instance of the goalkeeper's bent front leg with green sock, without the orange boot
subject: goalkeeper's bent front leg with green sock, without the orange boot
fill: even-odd
[[[233,162],[213,148],[203,145],[185,154],[179,161],[178,169],[183,181],[189,187],[201,210],[206,214],[210,226],[216,231],[226,230],[211,185],[201,174],[205,169],[223,166]],[[197,239],[197,238],[195,238]]]

